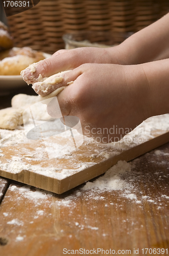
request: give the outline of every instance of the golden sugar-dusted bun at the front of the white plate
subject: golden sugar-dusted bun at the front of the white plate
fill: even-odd
[[[0,75],[20,75],[21,70],[44,58],[41,52],[34,51],[30,47],[14,47],[9,51],[1,52]]]

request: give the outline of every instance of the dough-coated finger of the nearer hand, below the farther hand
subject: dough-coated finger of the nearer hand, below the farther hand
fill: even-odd
[[[48,77],[43,82],[34,83],[32,88],[37,94],[46,96],[60,87],[70,85],[80,74],[80,69],[69,72],[61,72],[60,74],[55,74]]]

